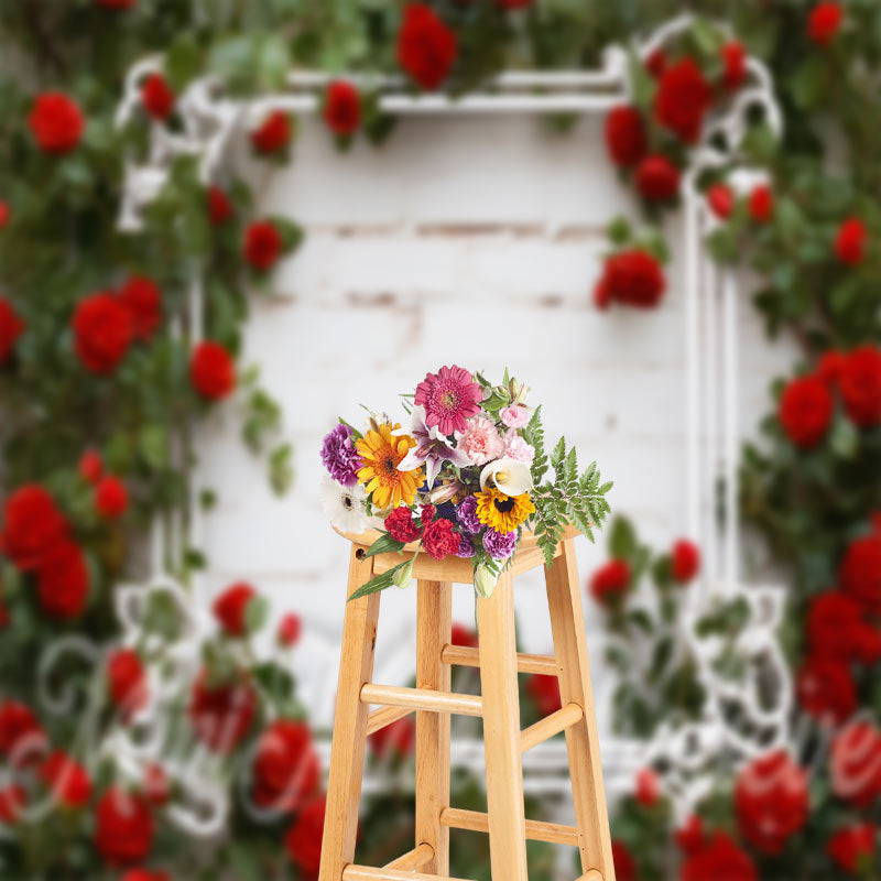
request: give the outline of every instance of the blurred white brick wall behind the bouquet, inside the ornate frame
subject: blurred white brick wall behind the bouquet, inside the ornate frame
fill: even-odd
[[[240,157],[240,162],[248,164]],[[411,119],[381,150],[337,155],[304,121],[294,163],[251,167],[262,209],[304,225],[300,253],[255,296],[247,360],[281,401],[295,445],[296,483],[274,498],[238,440],[231,410],[206,433],[203,479],[219,490],[206,523],[209,594],[248,578],[278,610],[296,609],[305,638],[296,667],[320,721],[329,719],[342,621],[347,547],[318,504],[320,438],[358,404],[396,412],[395,395],[428,370],[459,363],[501,377],[505,365],[543,403],[547,434],[565,433],[585,464],[616,481],[610,501],[666,545],[684,529],[682,267],[657,311],[598,313],[589,292],[606,248],[603,225],[632,211],[606,160],[600,120],[568,135],[529,117]],[[673,224],[672,241],[681,228]],[[790,361],[771,347],[743,294],[741,424],[766,407],[769,379]],[[603,558],[579,541],[583,576]],[[456,594],[468,622],[470,591]],[[378,677],[413,670],[414,591],[387,591]],[[518,588],[520,638],[550,649],[543,591]],[[598,612],[587,605],[600,699]],[[600,714],[600,722],[608,714]]]

